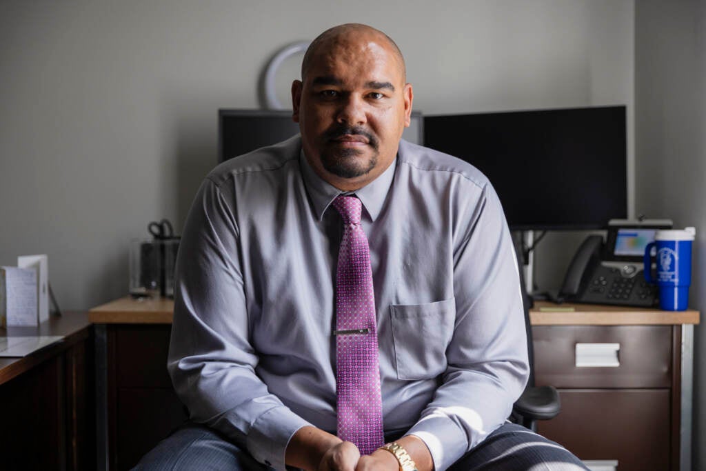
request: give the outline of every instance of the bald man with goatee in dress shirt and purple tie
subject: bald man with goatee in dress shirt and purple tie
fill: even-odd
[[[484,175],[401,140],[412,100],[393,40],[331,28],[292,84],[301,136],[205,179],[167,365],[191,420],[138,468],[585,469],[506,423],[528,375],[510,234]]]

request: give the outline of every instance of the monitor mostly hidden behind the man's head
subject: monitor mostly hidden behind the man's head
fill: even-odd
[[[421,144],[424,120],[421,112],[412,112],[412,122],[402,138]],[[273,145],[299,133],[292,112],[266,109],[218,110],[218,162]]]

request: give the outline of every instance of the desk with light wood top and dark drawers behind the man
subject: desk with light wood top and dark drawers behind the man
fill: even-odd
[[[530,311],[535,375],[538,385],[558,388],[563,409],[556,419],[539,422],[539,432],[584,460],[618,461],[621,471],[690,469],[693,324],[699,322],[698,311],[590,305],[563,305],[571,312],[542,311],[550,306],[555,305],[537,303]],[[123,298],[89,313],[107,345],[106,467],[134,465],[186,418],[165,368],[173,307],[169,300]],[[576,342],[621,342],[623,364],[577,369],[572,364]],[[655,345],[656,357],[650,353]],[[645,362],[635,364],[635,357]],[[634,369],[637,374],[630,374]],[[625,401],[642,407],[629,410]],[[616,422],[606,411],[622,411],[626,422]],[[133,415],[142,419],[127,418]],[[636,424],[648,424],[646,437],[635,434]],[[664,427],[663,434],[651,433],[659,427]],[[630,434],[638,438],[623,446]],[[640,467],[645,459],[652,461]]]

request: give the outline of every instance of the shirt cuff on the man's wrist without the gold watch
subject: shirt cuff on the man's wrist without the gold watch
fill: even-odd
[[[273,407],[253,423],[246,447],[258,462],[285,471],[285,452],[289,440],[306,425],[311,424],[288,407]]]

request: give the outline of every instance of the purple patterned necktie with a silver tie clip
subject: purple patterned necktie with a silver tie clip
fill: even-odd
[[[344,224],[336,273],[338,437],[369,455],[384,444],[370,249],[360,226],[360,200],[338,196],[332,204]]]

